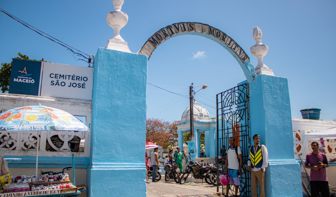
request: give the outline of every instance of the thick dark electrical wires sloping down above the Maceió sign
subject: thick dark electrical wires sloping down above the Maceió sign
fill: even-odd
[[[81,56],[81,57],[83,57],[83,58],[85,58],[87,60],[89,59],[89,57],[86,57],[86,56],[83,55],[83,54],[85,54],[85,55],[89,56],[88,54],[86,54],[86,53],[84,53],[84,52],[82,52],[82,51],[80,51],[80,50],[78,50],[78,49],[76,49],[76,48],[74,48],[74,47],[72,47],[72,46],[70,46],[70,45],[68,45],[68,44],[66,44],[66,43],[64,43],[64,42],[62,42],[62,41],[54,38],[54,37],[52,37],[52,36],[50,36],[49,34],[43,32],[43,31],[41,31],[41,30],[39,30],[39,29],[31,26],[31,25],[29,25],[28,23],[24,22],[23,20],[19,19],[18,17],[14,16],[13,14],[10,14],[9,12],[5,11],[2,8],[0,8],[0,11],[2,11],[3,13],[5,13],[9,17],[13,18],[15,21],[19,22],[20,24],[22,24],[22,25],[26,26],[27,28],[33,30],[34,32],[38,33],[39,35],[41,35],[41,36],[43,36],[45,38],[48,38],[49,40],[51,40],[51,41],[53,41],[53,42],[55,42],[57,44],[60,44],[61,46],[66,47],[67,50],[69,50],[70,52],[73,53],[74,58],[76,58],[75,57],[75,55],[76,55],[76,56]],[[75,51],[78,51],[78,52],[75,52]],[[82,60],[82,61],[88,62],[88,61],[80,59],[80,58],[77,58],[77,60]]]

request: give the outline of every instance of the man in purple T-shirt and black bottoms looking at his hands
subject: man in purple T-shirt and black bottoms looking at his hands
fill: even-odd
[[[304,166],[310,169],[310,190],[311,197],[329,196],[329,185],[326,173],[326,167],[329,167],[327,156],[319,152],[319,143],[312,142],[313,152],[308,153]],[[309,164],[309,165],[308,165]]]

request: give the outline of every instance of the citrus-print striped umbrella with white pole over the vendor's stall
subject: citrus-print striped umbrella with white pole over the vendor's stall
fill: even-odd
[[[37,130],[36,169],[38,163],[39,131],[88,131],[89,128],[70,113],[43,105],[14,108],[0,114],[0,130]]]

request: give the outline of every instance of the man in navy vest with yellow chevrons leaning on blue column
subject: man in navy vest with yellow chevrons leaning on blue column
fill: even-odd
[[[261,145],[260,136],[253,135],[254,145],[250,147],[250,155],[247,159],[247,169],[251,172],[251,197],[257,197],[259,183],[259,197],[265,197],[265,168],[268,165],[268,153],[264,145]]]

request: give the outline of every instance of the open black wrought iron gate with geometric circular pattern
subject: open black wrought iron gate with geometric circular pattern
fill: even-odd
[[[247,171],[247,158],[249,156],[249,87],[248,84],[236,86],[217,94],[217,156],[221,156],[222,146],[229,147],[229,138],[235,138],[235,144],[242,150],[243,168],[240,175],[240,196],[251,196],[250,172]],[[217,162],[217,169],[225,169],[225,157]],[[217,170],[217,178],[220,172]],[[218,180],[219,181],[219,180]],[[232,192],[233,192],[232,187]],[[225,193],[225,186],[217,186],[217,192]]]

